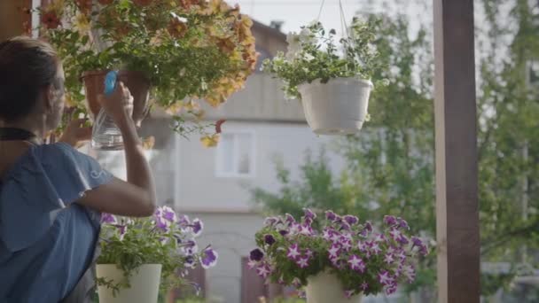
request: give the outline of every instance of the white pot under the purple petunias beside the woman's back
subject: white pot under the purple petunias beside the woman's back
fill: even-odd
[[[98,264],[98,278],[118,283],[123,279],[123,271],[114,264]],[[161,276],[160,264],[146,264],[138,268],[130,277],[130,288],[123,288],[113,296],[113,290],[98,286],[99,303],[157,303]]]

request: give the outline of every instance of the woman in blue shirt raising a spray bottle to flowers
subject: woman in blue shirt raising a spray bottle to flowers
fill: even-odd
[[[81,302],[95,260],[100,214],[149,216],[150,167],[133,120],[132,97],[118,83],[100,97],[121,129],[128,182],[74,149],[90,138],[82,121],[60,142],[64,72],[51,46],[15,37],[0,43],[0,302]]]

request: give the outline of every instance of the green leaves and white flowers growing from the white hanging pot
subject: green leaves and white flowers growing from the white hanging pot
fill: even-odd
[[[326,32],[320,22],[301,27],[300,35],[288,35],[288,51],[266,59],[262,70],[275,74],[284,82],[288,98],[299,98],[298,86],[319,80],[327,83],[335,78],[370,80],[379,69],[378,51],[372,44],[374,28],[380,20],[355,18],[350,36],[335,43],[336,31]],[[343,53],[342,53],[343,52]]]

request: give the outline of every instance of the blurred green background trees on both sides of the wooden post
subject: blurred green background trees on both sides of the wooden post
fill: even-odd
[[[476,5],[486,12],[477,32],[480,237],[483,261],[537,267],[531,254],[539,248],[539,89],[527,83],[527,64],[539,60],[539,16],[529,5],[520,0]],[[509,18],[502,9],[508,7]],[[377,18],[382,19],[373,30],[379,37],[377,59],[391,67],[374,77],[388,79],[389,85],[371,96],[369,128],[339,144],[348,167],[336,177],[325,159],[308,158],[301,179],[293,181],[278,166],[281,189],[252,193],[270,214],[297,213],[301,206],[344,208],[360,218],[394,214],[412,222],[413,232],[434,237],[434,70],[428,27],[410,35],[406,16]],[[313,184],[319,188],[313,190]],[[410,291],[435,284],[434,253],[430,256],[422,260]],[[511,277],[484,276],[483,293]]]

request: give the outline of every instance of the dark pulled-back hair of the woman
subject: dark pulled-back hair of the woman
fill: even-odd
[[[0,120],[13,122],[31,113],[43,87],[61,85],[58,69],[49,43],[26,36],[0,43]]]

